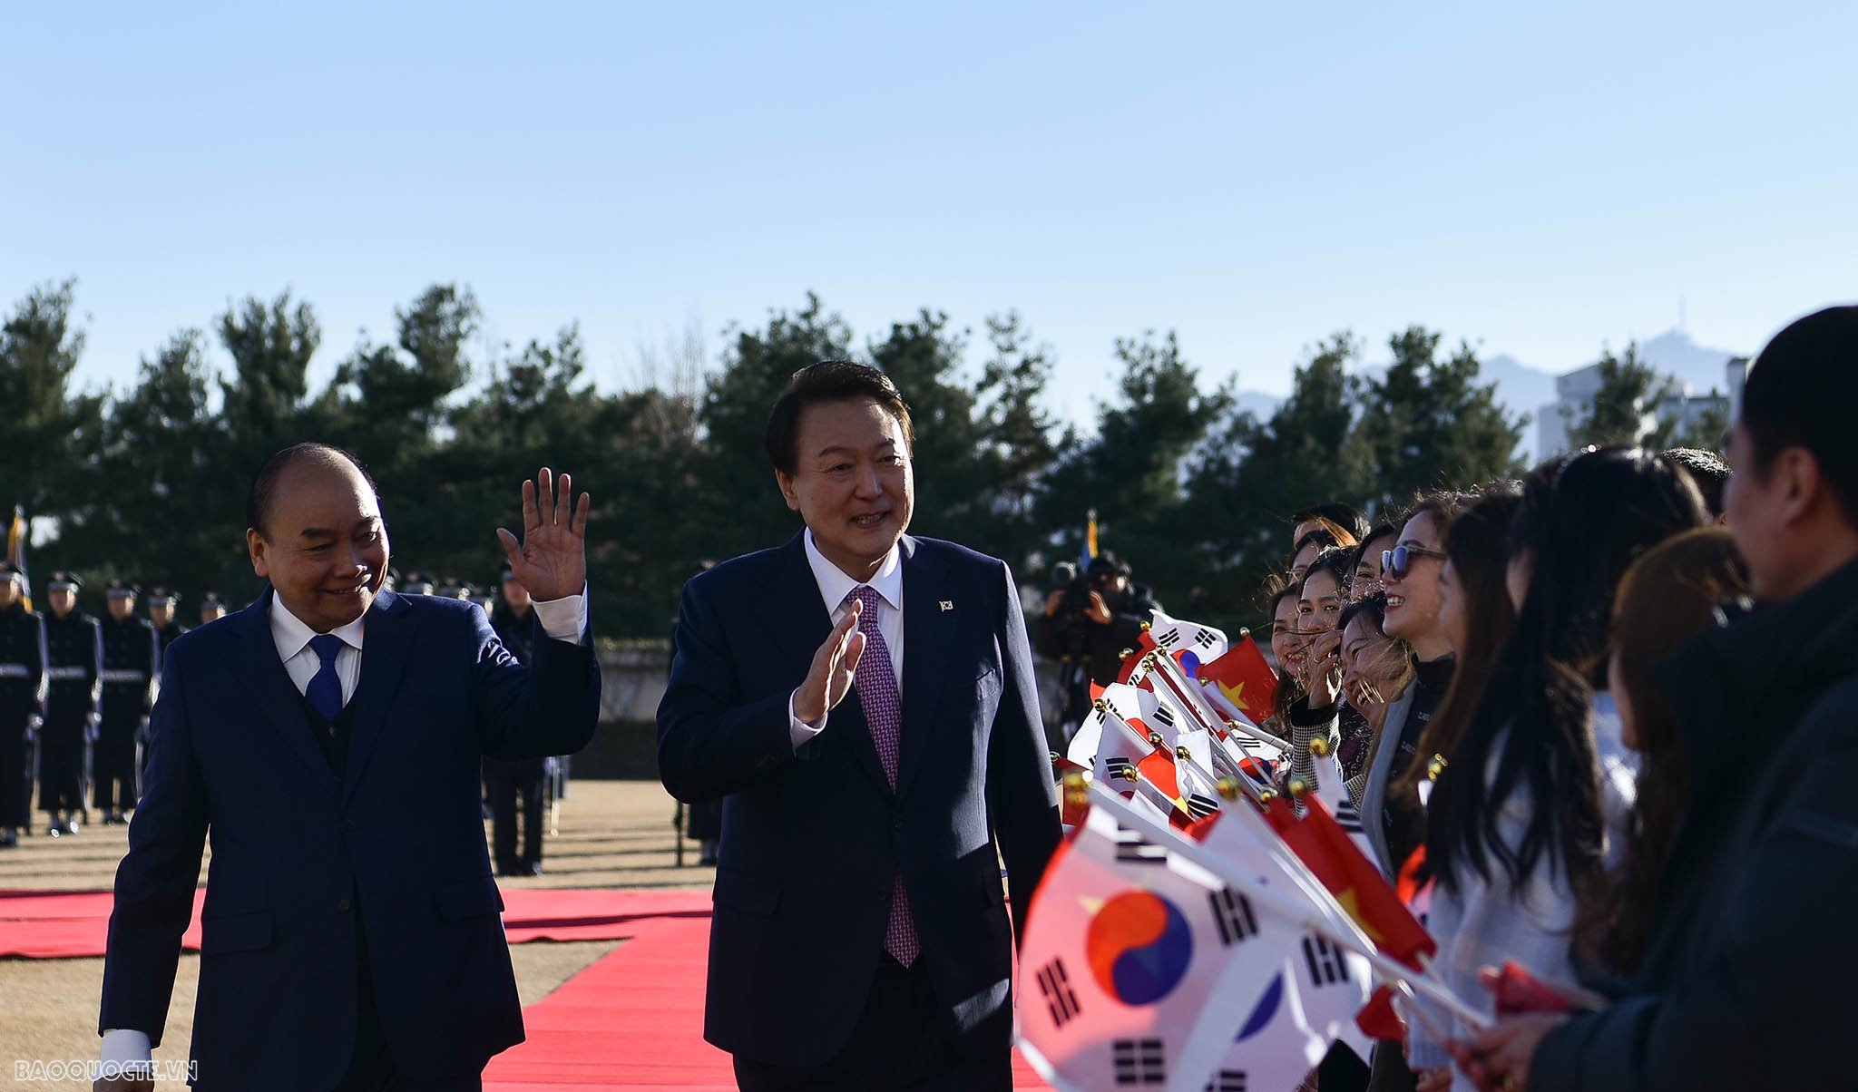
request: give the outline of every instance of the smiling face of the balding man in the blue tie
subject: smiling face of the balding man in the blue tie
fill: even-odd
[[[347,464],[299,461],[277,479],[266,526],[245,531],[251,568],[318,633],[368,611],[386,576],[381,505]]]

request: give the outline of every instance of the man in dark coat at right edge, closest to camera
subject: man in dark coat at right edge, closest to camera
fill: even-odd
[[[1520,1016],[1462,1044],[1486,1088],[1858,1088],[1858,306],[1761,349],[1724,507],[1763,605],[1657,672],[1691,808],[1639,973],[1605,1008]],[[1724,611],[1728,620],[1732,611]]]

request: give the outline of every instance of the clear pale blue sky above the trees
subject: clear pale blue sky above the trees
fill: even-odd
[[[457,280],[608,386],[808,290],[1018,308],[1079,416],[1145,329],[1280,392],[1343,327],[1566,370],[1858,295],[1858,6],[165,7],[6,17],[0,292],[78,279],[91,386],[284,288],[321,373]]]

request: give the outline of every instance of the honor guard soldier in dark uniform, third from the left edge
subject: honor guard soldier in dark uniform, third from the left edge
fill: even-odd
[[[136,617],[141,589],[126,579],[111,579],[104,591],[110,615],[104,635],[104,700],[97,732],[93,804],[104,813],[104,826],[124,821],[141,797],[139,750],[147,743],[149,709],[162,678],[162,639],[147,618]]]

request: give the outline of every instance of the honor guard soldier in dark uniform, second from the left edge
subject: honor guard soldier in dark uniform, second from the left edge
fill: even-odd
[[[39,730],[39,808],[50,819],[50,836],[76,834],[89,787],[91,745],[97,741],[102,698],[102,628],[78,607],[84,581],[54,572],[45,585],[52,613],[45,618],[46,676],[50,696]]]

